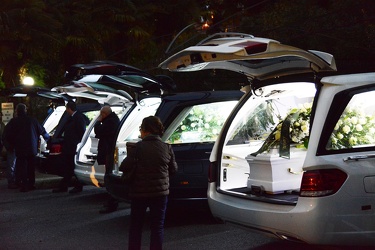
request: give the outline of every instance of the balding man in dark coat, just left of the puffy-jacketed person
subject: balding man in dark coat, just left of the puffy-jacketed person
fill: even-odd
[[[99,139],[97,161],[99,165],[106,164],[108,154],[111,152],[114,140],[117,135],[117,128],[120,123],[118,116],[112,111],[110,106],[104,106],[100,110],[100,115],[94,126],[95,137]],[[106,174],[108,173],[106,168]],[[116,211],[118,200],[109,195],[107,202],[99,213],[111,213]]]

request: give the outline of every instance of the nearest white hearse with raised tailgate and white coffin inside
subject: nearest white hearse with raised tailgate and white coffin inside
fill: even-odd
[[[334,75],[330,54],[226,33],[160,67],[248,77],[210,157],[215,217],[285,240],[375,246],[375,73]]]

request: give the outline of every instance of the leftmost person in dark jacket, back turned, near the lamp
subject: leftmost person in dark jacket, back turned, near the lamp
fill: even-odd
[[[35,157],[38,153],[39,136],[48,141],[49,134],[43,126],[26,115],[27,108],[23,103],[16,106],[17,116],[10,120],[5,131],[5,140],[9,148],[15,151],[16,176],[19,177],[20,191],[35,189]]]

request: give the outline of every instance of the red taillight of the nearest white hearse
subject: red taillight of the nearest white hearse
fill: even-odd
[[[321,197],[336,193],[348,175],[339,169],[306,171],[302,177],[300,196]]]

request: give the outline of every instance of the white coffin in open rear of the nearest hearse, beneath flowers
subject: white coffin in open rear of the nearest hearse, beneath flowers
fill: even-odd
[[[280,157],[278,150],[258,154],[256,157],[248,155],[245,158],[250,166],[247,187],[260,187],[268,193],[299,189],[305,156],[305,149],[296,148],[291,149],[290,159]]]

